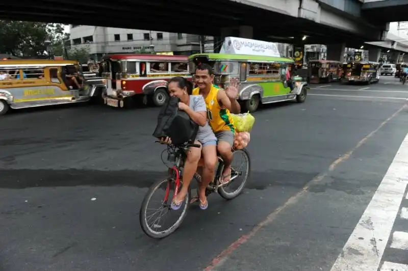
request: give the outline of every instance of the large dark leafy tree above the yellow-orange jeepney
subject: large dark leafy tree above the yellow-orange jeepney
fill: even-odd
[[[0,20],[0,52],[24,57],[43,55],[45,42],[53,44],[63,35],[63,25],[58,23]]]

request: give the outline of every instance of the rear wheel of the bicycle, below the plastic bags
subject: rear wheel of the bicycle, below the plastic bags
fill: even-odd
[[[247,149],[236,150],[233,155],[232,180],[228,184],[218,187],[218,193],[226,200],[232,200],[241,194],[251,171],[251,161]],[[234,188],[236,186],[238,187]]]

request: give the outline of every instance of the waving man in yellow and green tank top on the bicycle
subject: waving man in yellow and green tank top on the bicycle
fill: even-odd
[[[238,79],[231,78],[230,85],[221,89],[213,85],[214,73],[208,64],[200,64],[195,69],[194,83],[198,86],[193,89],[193,95],[202,95],[206,101],[208,119],[215,136],[217,137],[217,150],[224,160],[224,171],[221,183],[226,184],[231,180],[231,163],[233,160],[232,147],[235,139],[235,126],[231,113],[239,114],[241,106],[238,98]],[[216,153],[202,153],[206,163],[206,156],[213,157]],[[212,159],[210,159],[212,160]],[[209,169],[213,167],[213,169]],[[205,165],[202,185],[206,187],[213,178],[215,165]],[[211,171],[211,172],[210,172]]]

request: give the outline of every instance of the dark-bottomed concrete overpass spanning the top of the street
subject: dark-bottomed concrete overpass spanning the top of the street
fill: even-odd
[[[340,5],[339,3],[343,3]],[[241,36],[288,43],[360,47],[384,40],[386,25],[361,17],[359,0],[7,1],[0,19]],[[205,12],[203,12],[205,11]],[[308,36],[302,41],[303,36]]]

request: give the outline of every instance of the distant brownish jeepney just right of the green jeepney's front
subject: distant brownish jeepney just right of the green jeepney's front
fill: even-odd
[[[310,83],[330,83],[340,78],[340,61],[310,60],[308,63]]]

